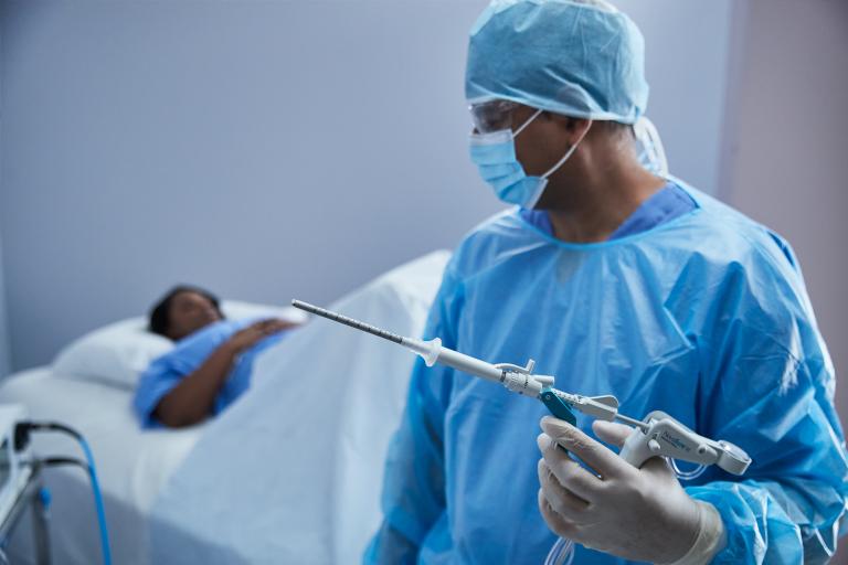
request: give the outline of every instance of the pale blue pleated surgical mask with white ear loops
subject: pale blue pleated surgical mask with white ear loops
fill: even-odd
[[[483,180],[491,186],[495,195],[502,202],[517,204],[528,210],[539,203],[539,199],[548,185],[548,178],[569,160],[589,131],[586,129],[577,142],[571,146],[562,159],[548,172],[541,177],[529,177],[516,157],[515,138],[541,113],[542,110],[537,110],[515,132],[511,129],[498,129],[486,134],[471,134],[470,136],[471,162],[477,166]]]

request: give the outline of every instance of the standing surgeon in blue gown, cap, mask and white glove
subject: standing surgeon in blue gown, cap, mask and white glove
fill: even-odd
[[[824,563],[848,491],[834,367],[777,234],[639,162],[644,43],[600,1],[496,0],[471,29],[470,157],[509,210],[459,244],[425,338],[660,409],[744,448],[688,481],[446,366],[415,366],[365,563]],[[543,434],[538,435],[539,424]],[[538,436],[538,437],[537,437]],[[562,445],[570,455],[555,447]]]

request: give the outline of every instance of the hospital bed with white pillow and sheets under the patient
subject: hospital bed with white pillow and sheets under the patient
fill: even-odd
[[[402,265],[332,306],[420,334],[447,258],[436,252]],[[244,302],[223,310],[234,319],[300,316]],[[310,321],[257,359],[251,390],[218,418],[141,430],[132,385],[171,345],[135,318],[84,335],[51,366],[11,375],[0,403],[22,403],[33,418],[66,423],[89,440],[114,563],[352,563],[380,521],[384,454],[414,361],[379,341]],[[34,449],[76,454],[62,437],[39,437]],[[54,563],[99,563],[87,477],[49,469],[46,483]],[[22,522],[12,563],[32,563]]]

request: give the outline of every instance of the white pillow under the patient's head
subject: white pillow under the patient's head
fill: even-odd
[[[277,317],[304,321],[296,308],[225,300],[224,316],[231,320]],[[173,348],[173,342],[147,331],[145,317],[129,318],[96,329],[67,344],[53,361],[53,373],[82,381],[94,381],[129,391],[152,360]]]

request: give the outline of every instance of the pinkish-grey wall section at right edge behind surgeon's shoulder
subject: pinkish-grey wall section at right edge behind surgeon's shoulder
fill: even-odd
[[[799,256],[848,424],[848,2],[751,0],[733,93],[732,203]],[[841,377],[841,379],[840,379]],[[845,540],[835,563],[848,564]]]

